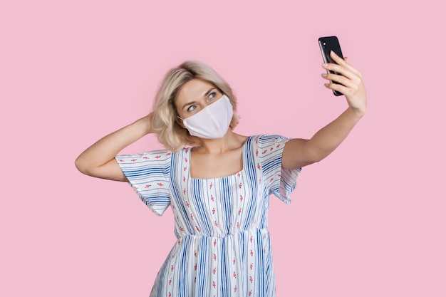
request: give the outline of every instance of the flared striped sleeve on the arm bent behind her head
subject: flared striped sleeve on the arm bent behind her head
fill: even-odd
[[[142,202],[161,216],[170,205],[172,152],[155,150],[137,155],[118,155],[115,159]]]

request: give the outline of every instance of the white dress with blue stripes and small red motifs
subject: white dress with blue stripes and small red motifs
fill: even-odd
[[[288,139],[248,137],[243,169],[227,177],[190,176],[190,148],[119,155],[142,202],[157,215],[171,207],[177,241],[150,296],[275,296],[269,195],[290,203],[299,170],[282,170]]]

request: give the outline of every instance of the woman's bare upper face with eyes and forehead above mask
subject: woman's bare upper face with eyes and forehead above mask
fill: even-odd
[[[182,86],[177,94],[175,105],[182,119],[195,115],[207,105],[222,98],[222,92],[212,83],[194,78]]]

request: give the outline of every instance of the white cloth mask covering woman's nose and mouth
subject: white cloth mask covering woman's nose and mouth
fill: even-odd
[[[232,105],[226,95],[195,115],[182,120],[190,135],[205,139],[222,138],[231,124]]]

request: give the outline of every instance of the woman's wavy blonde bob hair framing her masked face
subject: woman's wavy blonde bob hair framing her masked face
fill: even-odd
[[[212,83],[224,95],[227,95],[234,110],[234,115],[229,125],[232,130],[239,120],[239,116],[236,114],[237,99],[234,93],[232,93],[232,88],[229,84],[204,63],[186,61],[166,73],[157,91],[153,109],[150,113],[152,132],[155,132],[158,141],[172,152],[177,152],[183,147],[200,145],[199,138],[190,135],[189,131],[177,122],[178,114],[175,106],[175,99],[182,86],[194,78]]]

